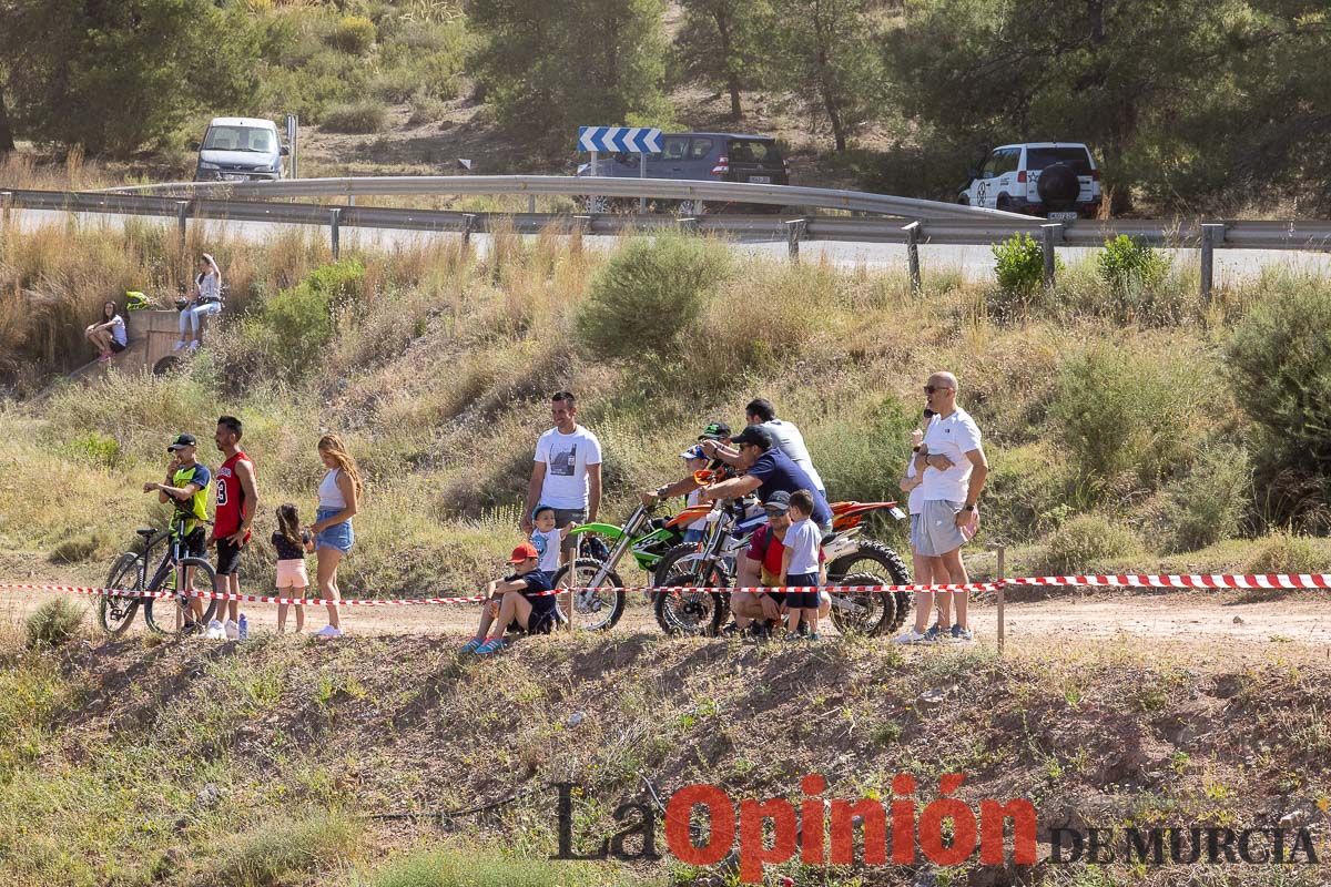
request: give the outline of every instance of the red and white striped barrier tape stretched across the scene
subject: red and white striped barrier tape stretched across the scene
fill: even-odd
[[[1026,576],[993,582],[968,582],[962,585],[823,585],[817,590],[835,592],[839,594],[864,594],[878,592],[996,592],[1006,585],[1051,585],[1051,586],[1106,586],[1106,588],[1203,588],[1203,589],[1331,589],[1331,573],[1267,573],[1258,576],[1230,576],[1230,574],[1193,574],[1193,576],[1157,576],[1157,574],[1121,574],[1121,576]],[[0,582],[0,590],[29,590],[29,592],[59,592],[65,594],[93,594],[138,598],[174,597],[176,592],[134,592],[130,589],[114,588],[85,588],[80,585],[37,585],[24,582]],[[551,592],[536,592],[534,596],[567,594],[586,590],[610,590],[590,588],[559,588]],[[813,590],[807,586],[764,586],[764,588],[720,588],[720,586],[663,586],[663,588],[616,588],[623,592],[668,592],[672,594],[692,592],[749,592],[749,593],[784,593]],[[417,598],[362,598],[327,601],[302,597],[273,597],[266,594],[230,594],[218,592],[194,590],[192,597],[214,598],[222,601],[245,601],[248,604],[298,604],[305,606],[421,606],[433,604],[479,604],[488,600],[487,594],[469,594],[451,597],[417,597]]]

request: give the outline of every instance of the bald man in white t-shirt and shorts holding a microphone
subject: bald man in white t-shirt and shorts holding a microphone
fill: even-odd
[[[934,372],[924,392],[936,416],[914,457],[922,500],[916,551],[929,563],[934,582],[961,585],[970,581],[961,563],[961,547],[974,533],[976,507],[989,475],[989,461],[980,444],[980,428],[970,414],[957,406],[957,376]],[[900,636],[898,642],[942,640],[944,632],[954,640],[973,640],[966,624],[966,592],[938,592],[938,625],[928,632],[921,629],[932,608],[920,606],[922,597],[917,600],[916,625]],[[949,629],[946,621],[953,602],[956,622]]]

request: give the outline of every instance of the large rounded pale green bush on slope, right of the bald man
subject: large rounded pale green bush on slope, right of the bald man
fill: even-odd
[[[1190,463],[1214,392],[1209,367],[1194,359],[1185,378],[1181,356],[1094,346],[1065,362],[1050,419],[1093,495],[1125,475],[1154,489]]]

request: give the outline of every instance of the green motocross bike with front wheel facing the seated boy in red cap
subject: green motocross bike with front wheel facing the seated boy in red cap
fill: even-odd
[[[615,572],[624,555],[632,555],[651,576],[662,557],[684,541],[684,529],[709,511],[711,505],[695,505],[673,517],[652,517],[650,508],[638,505],[623,527],[594,521],[571,529],[568,536],[578,548],[574,560],[555,572],[554,585],[584,589],[572,593],[574,625],[594,632],[612,629],[624,614],[624,582]]]

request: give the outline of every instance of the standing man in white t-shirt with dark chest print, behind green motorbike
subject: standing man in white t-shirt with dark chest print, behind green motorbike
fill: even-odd
[[[522,532],[527,536],[536,505],[555,509],[556,527],[596,520],[600,509],[600,442],[578,424],[578,399],[571,392],[560,391],[551,398],[550,414],[555,427],[536,440],[536,457],[527,484],[522,519]],[[563,563],[568,563],[575,544],[575,539],[564,537]]]

